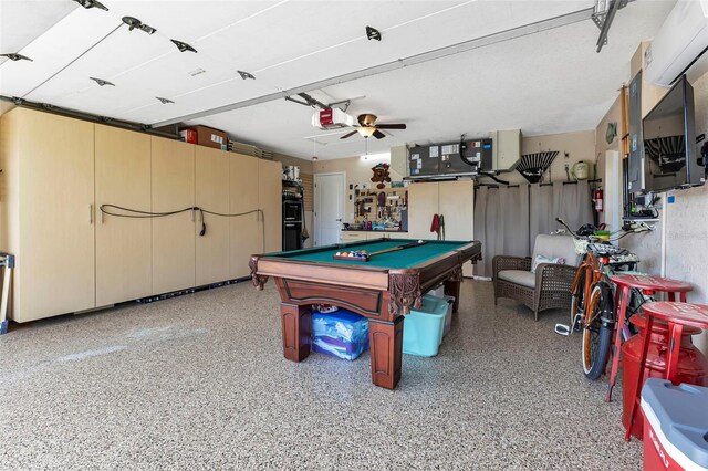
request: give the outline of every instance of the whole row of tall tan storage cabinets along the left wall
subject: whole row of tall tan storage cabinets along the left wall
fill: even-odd
[[[281,248],[278,161],[14,108],[0,117],[0,251],[17,257],[17,322],[248,276],[251,254]],[[123,218],[102,205],[189,209]],[[200,236],[194,207],[261,208],[267,232],[256,212],[205,214]]]

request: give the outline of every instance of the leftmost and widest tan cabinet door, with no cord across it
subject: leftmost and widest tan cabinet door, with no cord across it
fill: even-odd
[[[14,318],[95,307],[93,123],[21,109]]]

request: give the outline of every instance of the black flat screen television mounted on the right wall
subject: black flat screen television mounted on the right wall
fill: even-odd
[[[645,192],[706,181],[706,168],[696,155],[694,121],[694,88],[683,76],[642,121]]]

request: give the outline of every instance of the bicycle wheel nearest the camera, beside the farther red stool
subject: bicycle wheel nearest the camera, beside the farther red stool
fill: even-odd
[[[612,289],[598,283],[587,303],[590,310],[583,322],[583,373],[589,379],[598,379],[605,370],[612,345],[614,317]]]

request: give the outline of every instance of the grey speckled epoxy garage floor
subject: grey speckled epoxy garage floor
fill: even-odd
[[[2,469],[641,469],[621,387],[580,369],[562,311],[462,283],[435,358],[395,391],[369,357],[282,357],[278,294],[250,283],[64,316],[0,337]]]

